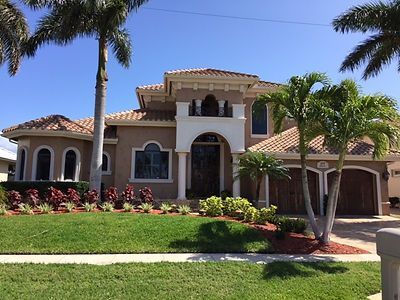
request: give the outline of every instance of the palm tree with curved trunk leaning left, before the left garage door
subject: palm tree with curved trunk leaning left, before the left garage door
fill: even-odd
[[[280,133],[283,130],[285,119],[297,123],[299,130],[299,152],[301,160],[301,181],[305,208],[315,238],[319,239],[321,231],[315,220],[314,210],[311,205],[310,191],[308,188],[307,162],[308,144],[315,137],[311,133],[314,119],[311,114],[310,103],[315,98],[317,85],[327,86],[329,79],[322,73],[310,73],[304,76],[294,76],[289,83],[277,92],[264,94],[258,97],[255,110],[270,103],[272,106],[272,117],[274,120],[274,131]]]

